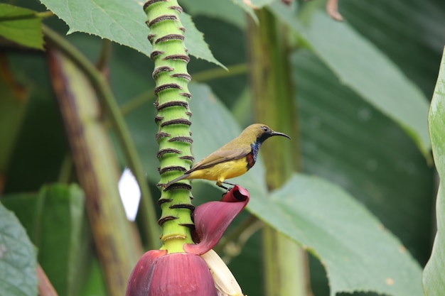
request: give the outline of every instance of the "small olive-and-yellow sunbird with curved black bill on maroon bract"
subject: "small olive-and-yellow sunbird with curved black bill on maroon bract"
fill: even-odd
[[[286,133],[272,131],[265,124],[247,126],[240,136],[195,163],[190,170],[184,172],[184,175],[171,180],[163,187],[168,187],[179,180],[205,179],[216,181],[216,185],[227,190],[223,183],[233,184],[225,180],[238,177],[250,170],[257,161],[259,147],[272,136],[291,138]]]

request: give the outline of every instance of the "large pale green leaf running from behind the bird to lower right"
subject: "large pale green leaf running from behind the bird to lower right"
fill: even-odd
[[[191,84],[191,91],[193,151],[200,159],[237,136],[240,128],[210,89]],[[264,158],[270,161],[267,155]],[[249,190],[248,208],[259,219],[318,256],[331,280],[331,295],[357,290],[421,295],[418,263],[368,210],[336,185],[296,175],[271,198],[261,160],[232,182]]]

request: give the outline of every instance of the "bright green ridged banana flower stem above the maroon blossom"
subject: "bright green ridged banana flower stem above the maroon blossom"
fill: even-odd
[[[146,24],[150,28],[149,40],[153,45],[151,59],[154,61],[154,93],[157,97],[155,117],[159,131],[159,174],[161,185],[179,177],[193,162],[191,154],[191,111],[188,103],[191,94],[187,71],[190,60],[184,44],[184,32],[179,19],[182,12],[176,0],[149,0],[144,5]],[[191,212],[191,185],[181,183],[166,189],[161,187],[158,204],[162,215],[161,249],[169,253],[183,252],[183,243],[193,243],[190,229],[193,226]]]

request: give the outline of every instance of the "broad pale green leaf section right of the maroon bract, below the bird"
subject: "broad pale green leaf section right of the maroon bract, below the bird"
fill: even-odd
[[[294,175],[252,212],[299,241],[326,268],[331,295],[422,295],[421,268],[402,243],[337,185]]]

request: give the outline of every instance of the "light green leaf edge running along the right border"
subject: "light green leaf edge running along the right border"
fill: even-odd
[[[441,295],[445,291],[445,50],[441,60],[431,107],[429,109],[429,134],[434,163],[440,177],[436,201],[437,233],[431,258],[424,269],[425,295]]]

